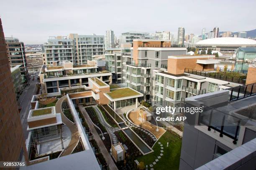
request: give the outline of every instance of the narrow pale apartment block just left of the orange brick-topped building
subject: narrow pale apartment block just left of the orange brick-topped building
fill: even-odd
[[[105,52],[106,70],[112,73],[112,82],[122,82],[121,48],[108,48]]]

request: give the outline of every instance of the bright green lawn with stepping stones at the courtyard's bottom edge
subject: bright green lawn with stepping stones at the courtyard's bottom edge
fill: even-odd
[[[154,152],[138,157],[138,162],[143,162],[145,167],[146,165],[149,167],[149,165],[152,164],[155,159],[158,159],[157,156],[159,156],[161,153],[161,146],[158,144],[158,142],[161,142],[164,147],[164,155],[161,156],[159,161],[156,162],[156,165],[153,166],[154,170],[178,170],[182,139],[177,137],[175,133],[169,131],[166,131],[166,133],[164,133],[164,135],[162,135],[161,138],[156,142],[153,147]],[[169,142],[169,147],[166,146],[167,142]]]

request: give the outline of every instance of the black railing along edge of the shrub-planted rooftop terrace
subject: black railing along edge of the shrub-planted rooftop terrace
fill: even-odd
[[[215,79],[218,79],[218,80],[236,82],[236,83],[240,83],[240,84],[245,84],[246,83],[246,78],[235,77],[235,76],[231,76],[231,75],[223,75],[220,72],[207,72],[207,71],[194,70],[194,69],[189,69],[189,68],[185,68],[184,72],[187,72],[187,73],[190,73],[190,74],[195,74],[195,75],[201,75],[201,76],[204,76],[204,77],[215,78]]]

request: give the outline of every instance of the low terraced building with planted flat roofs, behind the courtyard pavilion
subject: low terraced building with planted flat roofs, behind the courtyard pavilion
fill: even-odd
[[[112,73],[104,67],[98,66],[95,60],[88,61],[87,65],[74,65],[70,61],[63,61],[59,66],[44,65],[39,74],[42,93],[58,92],[61,87],[88,86],[90,77],[112,84]]]

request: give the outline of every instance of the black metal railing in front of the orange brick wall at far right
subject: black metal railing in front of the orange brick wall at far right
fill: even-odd
[[[229,101],[235,101],[256,95],[256,83],[242,85],[238,87],[231,87],[226,90],[230,91]]]

